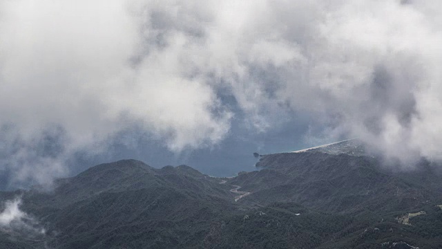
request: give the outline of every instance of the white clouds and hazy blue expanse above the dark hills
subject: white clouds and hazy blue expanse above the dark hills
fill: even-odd
[[[230,176],[253,170],[255,151],[355,137],[385,158],[439,158],[441,11],[436,0],[0,0],[3,187],[122,158]]]

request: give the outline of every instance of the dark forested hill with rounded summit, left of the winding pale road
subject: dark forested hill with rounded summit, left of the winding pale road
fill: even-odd
[[[233,198],[229,186],[191,167],[153,169],[122,160],[61,179],[52,192],[26,192],[22,208],[46,224],[46,243],[54,248],[111,248],[128,241],[134,248],[171,248],[190,243],[207,221],[235,210]]]

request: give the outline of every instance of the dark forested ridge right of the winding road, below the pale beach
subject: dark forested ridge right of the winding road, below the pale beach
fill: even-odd
[[[256,166],[264,169],[262,174],[241,174],[231,183],[252,192],[249,199],[257,203],[294,201],[325,212],[354,213],[410,210],[442,201],[441,174],[428,162],[412,172],[392,172],[369,156],[307,151],[266,155]],[[271,185],[260,184],[271,175],[279,177]]]

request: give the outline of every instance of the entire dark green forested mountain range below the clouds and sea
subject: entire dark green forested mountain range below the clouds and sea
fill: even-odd
[[[0,192],[28,214],[28,227],[0,226],[0,248],[442,248],[439,167],[338,152],[262,156],[235,178],[122,160],[50,192]],[[237,185],[251,194],[235,201]]]

